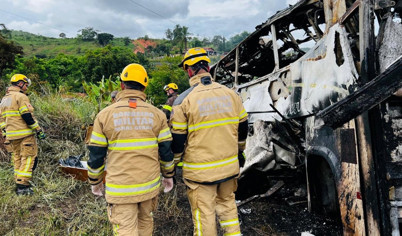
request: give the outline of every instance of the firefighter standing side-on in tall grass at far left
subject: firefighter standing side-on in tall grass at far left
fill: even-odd
[[[11,84],[1,101],[1,116],[6,124],[6,139],[13,149],[16,194],[30,195],[33,190],[29,181],[38,162],[35,134],[38,139],[44,139],[45,134],[33,115],[33,107],[26,95],[31,80],[16,74],[11,77]]]

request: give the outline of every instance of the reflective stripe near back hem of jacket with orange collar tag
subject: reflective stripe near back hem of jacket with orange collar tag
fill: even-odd
[[[156,190],[160,186],[160,176],[144,184],[117,185],[106,183],[106,193],[113,196],[143,194]]]

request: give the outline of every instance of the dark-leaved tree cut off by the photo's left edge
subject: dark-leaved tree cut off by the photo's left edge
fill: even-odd
[[[0,27],[7,29],[4,24]],[[23,47],[16,46],[13,41],[7,41],[0,32],[0,77],[5,69],[13,69],[14,61],[18,54],[23,55]]]

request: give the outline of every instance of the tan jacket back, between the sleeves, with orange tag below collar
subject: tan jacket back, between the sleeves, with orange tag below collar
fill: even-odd
[[[114,203],[148,200],[156,196],[160,186],[158,135],[164,113],[140,99],[135,107],[130,104],[134,103],[121,99],[98,115],[109,149],[106,197]],[[130,195],[133,199],[129,200]]]

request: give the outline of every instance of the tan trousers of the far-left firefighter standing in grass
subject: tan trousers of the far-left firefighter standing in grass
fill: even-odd
[[[14,155],[14,177],[17,184],[30,185],[37,165],[38,145],[35,135],[10,140]]]

